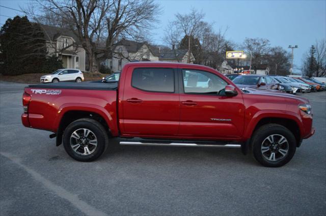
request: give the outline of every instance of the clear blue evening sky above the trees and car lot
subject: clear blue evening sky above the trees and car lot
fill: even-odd
[[[0,5],[14,9],[30,1],[1,0]],[[302,58],[316,40],[326,38],[326,1],[168,1],[158,0],[162,14],[160,24],[153,32],[156,44],[164,43],[164,29],[176,13],[188,13],[191,8],[206,14],[205,21],[214,23],[214,29],[229,26],[227,39],[241,43],[245,38],[266,38],[273,46],[294,50],[294,64],[301,67]],[[0,7],[1,25],[8,17],[21,14]],[[4,16],[5,15],[5,16]],[[290,49],[289,49],[290,50]]]

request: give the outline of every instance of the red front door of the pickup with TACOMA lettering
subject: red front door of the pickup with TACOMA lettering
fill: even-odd
[[[242,95],[227,97],[228,83],[214,73],[180,71],[180,137],[239,138],[243,131]]]

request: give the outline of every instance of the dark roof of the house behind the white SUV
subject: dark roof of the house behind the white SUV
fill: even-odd
[[[69,28],[61,28],[61,27],[56,27],[51,25],[44,25],[44,24],[40,24],[40,27],[43,30],[44,39],[46,41],[55,41],[60,36],[66,36],[66,37],[73,38],[73,40],[77,44],[80,44],[78,37],[76,37],[76,35]]]

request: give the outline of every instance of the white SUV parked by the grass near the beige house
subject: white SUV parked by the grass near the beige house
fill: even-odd
[[[84,81],[84,74],[77,69],[59,69],[41,77],[41,82]]]

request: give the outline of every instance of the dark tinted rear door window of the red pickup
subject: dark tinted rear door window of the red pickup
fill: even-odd
[[[147,91],[174,92],[173,69],[138,68],[132,72],[131,85]]]

